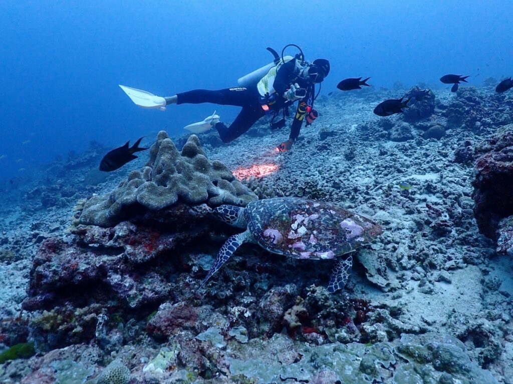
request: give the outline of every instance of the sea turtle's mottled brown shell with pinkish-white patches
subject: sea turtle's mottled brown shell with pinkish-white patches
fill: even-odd
[[[337,205],[298,197],[254,200],[244,215],[262,248],[295,258],[341,256],[383,232],[372,220]]]

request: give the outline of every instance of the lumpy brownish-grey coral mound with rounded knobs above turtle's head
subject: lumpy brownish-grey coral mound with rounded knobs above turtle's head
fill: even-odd
[[[257,199],[219,160],[210,161],[198,136],[189,136],[179,152],[165,131],[150,148],[145,167],[132,171],[114,191],[92,196],[80,216],[82,224],[111,227],[141,208],[162,210],[176,203],[245,206]],[[137,209],[139,208],[139,209]]]

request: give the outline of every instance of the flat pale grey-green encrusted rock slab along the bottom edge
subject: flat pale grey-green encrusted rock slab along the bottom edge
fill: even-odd
[[[228,351],[230,374],[236,382],[354,382],[394,384],[479,382],[497,384],[489,371],[472,362],[455,337],[427,333],[404,334],[394,342],[329,343],[301,349],[275,334],[269,340],[250,340],[243,355]],[[285,359],[285,352],[297,356]],[[331,381],[314,381],[326,378]],[[293,380],[293,381],[292,381]]]

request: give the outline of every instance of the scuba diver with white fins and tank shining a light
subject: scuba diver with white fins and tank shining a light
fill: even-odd
[[[297,47],[299,54],[283,56],[289,46]],[[159,108],[165,110],[171,104],[201,104],[212,103],[242,107],[241,112],[233,123],[227,127],[219,121],[215,112],[203,122],[191,124],[185,129],[194,133],[205,132],[214,127],[224,143],[229,143],[245,133],[261,117],[272,114],[271,128],[279,129],[285,126],[285,116],[288,107],[299,100],[289,139],[277,147],[280,152],[288,151],[297,140],[303,120],[311,124],[318,113],[313,109],[315,84],[319,84],[328,75],[330,65],[328,60],[318,58],[308,63],[303,51],[297,45],[289,44],[282,50],[281,56],[272,48],[267,48],[274,56],[272,63],[259,68],[246,76],[239,78],[238,87],[205,90],[196,89],[177,93],[174,96],[160,97],[139,89],[120,85],[132,101],[143,108]],[[320,89],[319,89],[320,91]],[[283,113],[283,118],[274,123],[274,119]]]

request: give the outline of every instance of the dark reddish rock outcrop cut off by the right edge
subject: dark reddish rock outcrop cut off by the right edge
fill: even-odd
[[[475,165],[473,211],[480,232],[492,240],[499,238],[499,221],[513,215],[512,139],[511,132],[506,132],[503,137],[490,140],[489,152],[482,155]],[[509,143],[511,145],[508,146]]]

